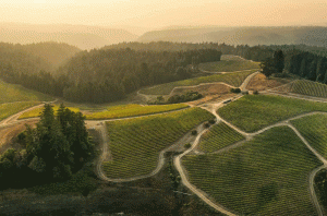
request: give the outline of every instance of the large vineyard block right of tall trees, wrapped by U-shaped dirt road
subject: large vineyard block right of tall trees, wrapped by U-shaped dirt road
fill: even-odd
[[[113,160],[105,161],[108,178],[130,178],[150,173],[159,152],[187,131],[215,117],[201,108],[190,108],[160,116],[107,122],[109,149]]]

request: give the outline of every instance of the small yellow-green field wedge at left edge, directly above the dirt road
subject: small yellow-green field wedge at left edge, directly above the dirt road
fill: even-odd
[[[0,104],[0,120],[5,119],[21,110],[27,109],[28,107],[36,106],[40,103],[38,101],[19,101]]]

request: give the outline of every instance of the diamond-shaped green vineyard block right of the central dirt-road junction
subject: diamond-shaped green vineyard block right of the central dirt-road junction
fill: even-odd
[[[223,119],[246,132],[310,111],[327,111],[327,104],[270,95],[246,95],[218,109]]]

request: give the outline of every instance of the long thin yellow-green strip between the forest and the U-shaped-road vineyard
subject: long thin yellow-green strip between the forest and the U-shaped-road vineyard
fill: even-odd
[[[109,107],[106,111],[94,112],[85,115],[86,119],[117,119],[125,117],[145,116],[152,113],[160,113],[165,111],[178,110],[189,107],[184,104],[175,105],[152,105],[152,106],[141,106],[141,105],[121,105]]]

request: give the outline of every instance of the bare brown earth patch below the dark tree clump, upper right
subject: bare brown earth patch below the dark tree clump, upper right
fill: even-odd
[[[280,85],[287,84],[290,81],[282,79],[270,79],[268,80],[264,74],[259,73],[251,79],[246,88],[249,91],[266,91],[269,88],[278,87]]]

